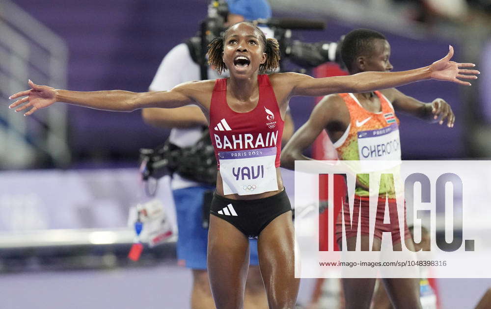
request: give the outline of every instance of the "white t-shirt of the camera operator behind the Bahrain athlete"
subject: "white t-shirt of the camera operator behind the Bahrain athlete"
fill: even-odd
[[[228,71],[226,72],[228,73]],[[200,68],[191,58],[189,48],[185,43],[175,46],[168,52],[157,70],[150,91],[165,91],[187,81],[200,80]],[[218,75],[218,72],[208,68],[208,79],[227,77]],[[179,147],[191,146],[202,136],[201,127],[189,129],[171,129],[169,141]],[[200,183],[187,180],[174,174],[171,181],[172,190],[198,186]]]

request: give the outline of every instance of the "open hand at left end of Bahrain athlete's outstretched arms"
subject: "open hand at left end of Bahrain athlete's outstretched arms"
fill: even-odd
[[[28,107],[31,107],[24,116],[29,116],[33,112],[35,112],[38,109],[45,108],[50,106],[51,104],[56,102],[56,89],[53,87],[49,86],[39,86],[33,83],[30,79],[28,82],[29,86],[31,87],[30,90],[26,91],[21,91],[18,92],[12,96],[9,97],[9,99],[17,99],[24,97],[20,100],[17,100],[16,102],[10,104],[8,108],[14,108],[19,105],[19,108],[16,108],[15,111],[19,112],[21,110],[24,110]]]

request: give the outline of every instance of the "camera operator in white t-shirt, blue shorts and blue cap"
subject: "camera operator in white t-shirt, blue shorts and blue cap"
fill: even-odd
[[[228,12],[226,10],[228,4]],[[225,9],[224,9],[225,7]],[[244,20],[267,19],[271,17],[271,8],[265,0],[228,0],[212,1],[210,9],[216,19],[223,14],[223,26],[233,25]],[[224,14],[225,11],[225,14]],[[217,14],[218,12],[218,14]],[[209,10],[210,15],[210,10]],[[210,16],[209,18],[210,19]],[[213,20],[215,22],[215,20]],[[219,22],[218,22],[219,24]],[[203,29],[202,29],[203,30]],[[212,32],[212,31],[207,31]],[[204,37],[203,35],[201,37]],[[156,76],[149,89],[150,91],[169,90],[174,86],[190,81],[199,80],[203,77],[200,68],[196,46],[206,46],[192,38],[187,43],[174,47],[165,55]],[[213,68],[206,67],[205,74],[208,79],[223,78]],[[164,72],[174,72],[173,75]],[[169,142],[179,148],[189,148],[203,139],[207,133],[204,128],[208,126],[207,119],[197,106],[184,106],[180,108],[146,108],[142,112],[144,121],[154,127],[172,128]],[[205,132],[205,134],[203,134]],[[283,139],[288,139],[293,134],[293,123],[291,116],[287,114]],[[286,142],[286,141],[285,141]],[[211,145],[211,143],[210,143]],[[210,159],[215,162],[212,148]],[[186,158],[181,158],[183,161]],[[199,161],[189,160],[199,168]],[[192,162],[191,162],[192,161]],[[215,173],[216,166],[213,167]],[[197,173],[197,172],[196,172]],[[216,174],[215,174],[216,175]],[[180,265],[191,268],[193,284],[191,292],[192,309],[215,308],[211,295],[208,274],[206,270],[206,250],[208,229],[206,226],[207,215],[209,215],[209,204],[215,190],[214,184],[203,183],[182,177],[179,172],[173,174],[171,189],[174,204],[176,206],[179,237],[177,241],[177,257]],[[213,177],[210,177],[214,179]],[[208,205],[207,205],[208,204]],[[205,220],[205,225],[203,225]],[[250,267],[246,283],[246,297],[244,308],[268,308],[266,293],[261,279],[258,266],[257,239],[250,240]]]

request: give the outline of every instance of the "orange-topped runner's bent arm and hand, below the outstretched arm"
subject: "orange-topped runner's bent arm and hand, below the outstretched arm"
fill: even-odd
[[[402,111],[421,120],[440,125],[447,121],[447,127],[452,128],[455,123],[455,115],[450,104],[445,100],[437,98],[432,103],[423,103],[405,95],[399,90],[385,89],[381,91],[392,103],[396,111]]]

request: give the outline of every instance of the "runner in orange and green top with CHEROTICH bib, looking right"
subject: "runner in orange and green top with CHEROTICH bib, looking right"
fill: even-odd
[[[350,74],[392,70],[389,62],[390,45],[385,37],[376,31],[357,29],[348,33],[343,41],[341,56]],[[380,92],[329,95],[316,105],[309,120],[295,132],[285,146],[281,153],[281,166],[294,169],[295,160],[311,160],[302,153],[314,142],[322,130],[327,131],[329,138],[337,147],[340,159],[400,159],[399,121],[394,110],[403,111],[430,122],[439,122],[440,125],[446,120],[449,128],[453,127],[455,121],[450,105],[444,100],[436,99],[432,103],[422,103],[394,88]],[[358,178],[355,189],[358,201],[366,199],[363,198],[368,193],[365,188],[367,187],[366,182],[367,180],[364,180],[363,177]],[[381,185],[382,193],[391,193],[393,190],[393,188]],[[395,203],[389,201],[389,207],[390,204]],[[368,203],[362,201],[360,207],[363,206],[368,206]],[[379,211],[377,215],[379,216]],[[368,251],[369,248],[363,248],[363,244],[369,243],[367,238],[370,239],[370,235],[364,233],[364,229],[368,231],[362,225],[361,250]],[[409,231],[406,232],[405,237],[410,237]],[[372,251],[380,250],[382,242],[381,238],[377,237],[381,237],[381,234],[382,232],[376,226]],[[400,238],[397,229],[396,233],[392,234],[393,240],[395,234]],[[356,235],[347,233],[346,237],[348,250],[355,250]],[[400,250],[400,248],[402,247],[399,239],[399,243],[394,243],[394,250]],[[386,278],[383,281],[396,308],[421,309],[417,281],[394,278]],[[373,278],[343,279],[346,308],[368,309],[374,286],[375,279]]]

